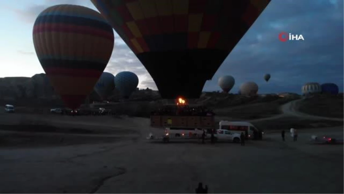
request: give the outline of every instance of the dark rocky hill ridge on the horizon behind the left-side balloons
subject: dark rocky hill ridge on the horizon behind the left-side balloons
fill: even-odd
[[[151,89],[137,89],[130,97],[130,100],[145,101],[159,99],[158,91]],[[115,89],[111,101],[121,99],[119,92]],[[93,91],[89,95],[90,101],[98,101],[100,97]],[[62,105],[60,96],[54,91],[49,79],[45,74],[36,74],[30,77],[5,77],[0,78],[0,103],[15,104],[19,106],[47,106]]]

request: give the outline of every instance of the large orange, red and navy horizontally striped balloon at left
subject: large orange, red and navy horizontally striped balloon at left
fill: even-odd
[[[76,5],[43,10],[33,26],[37,57],[66,106],[78,108],[104,71],[114,33],[96,11]]]

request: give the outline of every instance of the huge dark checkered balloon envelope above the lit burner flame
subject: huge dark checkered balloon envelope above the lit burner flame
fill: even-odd
[[[152,76],[162,98],[199,98],[270,0],[91,0]]]

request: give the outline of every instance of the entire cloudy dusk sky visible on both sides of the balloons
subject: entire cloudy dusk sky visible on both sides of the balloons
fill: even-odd
[[[15,0],[1,2],[0,77],[31,77],[44,72],[32,42],[37,15],[55,4],[96,8],[89,0]],[[304,41],[281,42],[280,32],[302,35]],[[301,92],[306,82],[336,83],[344,88],[344,0],[272,0],[229,54],[205,91],[220,90],[217,79],[232,75],[240,84],[255,81],[259,93]],[[115,35],[115,47],[105,71],[135,72],[140,88],[157,89],[151,76],[126,44]],[[268,83],[264,74],[270,73]]]

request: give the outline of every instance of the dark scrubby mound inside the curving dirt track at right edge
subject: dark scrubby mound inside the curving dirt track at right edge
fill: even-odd
[[[344,98],[337,96],[315,96],[303,100],[299,110],[310,115],[344,118]]]

